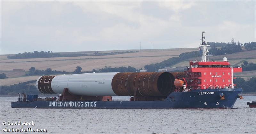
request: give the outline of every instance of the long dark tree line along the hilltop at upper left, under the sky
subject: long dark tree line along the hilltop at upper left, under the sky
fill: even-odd
[[[139,52],[139,51],[122,51],[122,52],[109,52],[109,53],[99,53],[96,51],[94,53],[71,53],[71,54],[60,54],[53,53],[52,51],[34,51],[34,52],[24,52],[18,53],[13,56],[7,56],[8,59],[28,59],[28,58],[52,58],[52,57],[77,57],[77,56],[101,56],[101,55],[114,55],[114,54],[122,54],[122,53],[131,53],[131,52]]]

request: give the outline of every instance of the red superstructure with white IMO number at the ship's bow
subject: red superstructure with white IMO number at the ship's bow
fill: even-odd
[[[233,68],[228,61],[190,61],[185,78],[187,88],[232,88],[232,70],[233,73],[242,72],[241,67]]]

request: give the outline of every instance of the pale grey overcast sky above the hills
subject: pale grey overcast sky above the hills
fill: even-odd
[[[256,1],[0,1],[0,53],[256,41]]]

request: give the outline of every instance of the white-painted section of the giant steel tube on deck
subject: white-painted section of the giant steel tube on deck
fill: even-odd
[[[68,88],[68,91],[74,95],[117,96],[111,87],[112,79],[116,74],[117,73],[86,73],[75,75],[58,75],[52,79],[51,89],[57,94],[62,93],[64,88]],[[38,78],[37,83],[39,82],[40,78],[41,77]],[[47,82],[47,78],[45,81]],[[40,83],[37,85],[39,84]],[[45,85],[47,86],[47,84]],[[43,85],[41,84],[41,87],[42,86]],[[39,90],[38,87],[37,89]],[[47,88],[45,89],[47,91]]]

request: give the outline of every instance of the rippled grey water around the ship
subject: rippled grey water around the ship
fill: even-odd
[[[236,109],[21,109],[11,108],[16,97],[0,97],[3,128],[47,129],[40,133],[252,133],[256,108],[237,99]],[[4,126],[2,122],[35,122],[35,126]],[[28,132],[35,133],[35,132]]]

